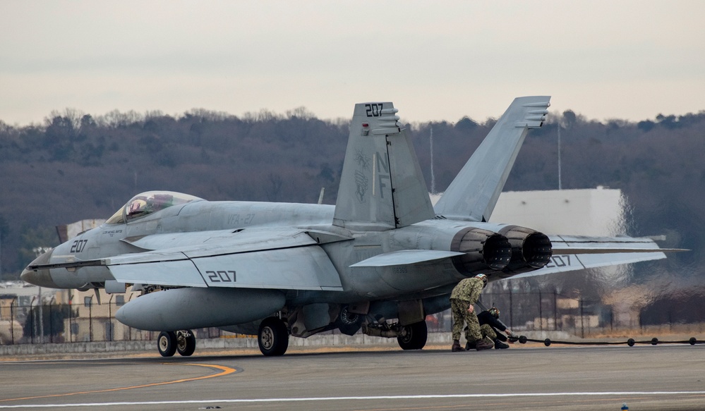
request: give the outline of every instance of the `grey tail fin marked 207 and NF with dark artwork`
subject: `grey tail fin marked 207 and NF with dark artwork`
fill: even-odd
[[[333,223],[389,229],[432,219],[414,147],[392,103],[355,105]]]

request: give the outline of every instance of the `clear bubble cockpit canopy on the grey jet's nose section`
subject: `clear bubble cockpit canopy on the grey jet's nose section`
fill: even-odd
[[[173,191],[147,191],[132,197],[121,209],[116,211],[105,223],[122,224],[155,211],[187,202],[203,200],[200,197]]]

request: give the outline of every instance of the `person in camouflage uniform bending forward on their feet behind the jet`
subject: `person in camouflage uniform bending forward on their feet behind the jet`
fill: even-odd
[[[460,333],[464,323],[468,324],[466,338],[473,341],[476,350],[486,350],[493,347],[493,343],[482,338],[480,323],[475,314],[473,304],[480,298],[482,289],[487,285],[487,276],[478,274],[471,278],[461,280],[452,293],[450,293],[450,310],[453,314],[453,345],[452,352],[465,351],[460,346]]]

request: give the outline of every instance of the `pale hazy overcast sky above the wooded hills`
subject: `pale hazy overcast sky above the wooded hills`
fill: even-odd
[[[498,117],[514,97],[644,120],[705,109],[705,1],[0,0],[0,120],[305,106]]]

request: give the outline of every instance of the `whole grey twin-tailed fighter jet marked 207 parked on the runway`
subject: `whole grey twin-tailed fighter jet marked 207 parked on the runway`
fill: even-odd
[[[463,278],[664,258],[646,238],[546,235],[490,216],[529,130],[550,97],[519,97],[431,204],[391,102],[356,104],[337,202],[209,202],[178,192],[135,195],[102,226],[35,259],[22,279],[140,297],[116,312],[161,331],[162,356],[191,355],[191,329],[256,334],[264,355],[289,337],[339,329],[426,344],[428,314],[450,307]]]

